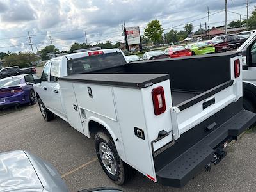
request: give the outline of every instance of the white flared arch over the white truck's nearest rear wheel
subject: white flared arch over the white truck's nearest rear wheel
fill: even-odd
[[[88,138],[91,138],[91,132],[89,127],[90,122],[96,122],[97,124],[102,125],[102,127],[104,127],[106,131],[108,131],[109,135],[111,136],[112,140],[115,143],[116,150],[118,151],[118,155],[124,161],[124,152],[122,148],[121,138],[118,138],[116,136],[115,132],[112,131],[112,129],[109,127],[108,124],[106,124],[106,122],[94,116],[91,116],[90,118],[88,118],[88,121],[86,124],[86,130],[84,130],[84,134],[88,135]]]

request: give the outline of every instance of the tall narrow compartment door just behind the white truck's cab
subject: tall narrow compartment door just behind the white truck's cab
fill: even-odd
[[[60,81],[60,92],[63,99],[63,106],[67,113],[68,123],[77,131],[84,134],[83,124],[81,122],[81,114],[77,105],[73,83]]]

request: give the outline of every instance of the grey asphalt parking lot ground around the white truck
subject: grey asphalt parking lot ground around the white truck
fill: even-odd
[[[256,132],[247,131],[227,147],[227,157],[211,172],[202,170],[184,188],[169,188],[156,184],[140,173],[117,186],[102,171],[93,140],[70,125],[55,118],[45,122],[38,105],[9,111],[0,116],[1,152],[29,150],[53,164],[70,191],[99,186],[115,186],[124,191],[255,191]],[[140,161],[140,159],[138,159]]]

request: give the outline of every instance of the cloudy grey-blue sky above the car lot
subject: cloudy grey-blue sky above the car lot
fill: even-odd
[[[192,22],[205,28],[209,6],[210,28],[225,24],[225,0],[0,0],[0,52],[40,51],[54,44],[61,51],[74,42],[124,42],[122,24],[140,26],[160,20],[164,33],[182,30]],[[256,6],[250,0],[249,13]],[[235,13],[234,13],[235,12]],[[238,13],[238,14],[237,14]],[[228,22],[246,18],[246,0],[228,0]]]

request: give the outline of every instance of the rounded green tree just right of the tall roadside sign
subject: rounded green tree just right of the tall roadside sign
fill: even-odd
[[[159,20],[152,20],[147,24],[144,30],[144,35],[147,36],[156,45],[163,41],[163,28]]]

